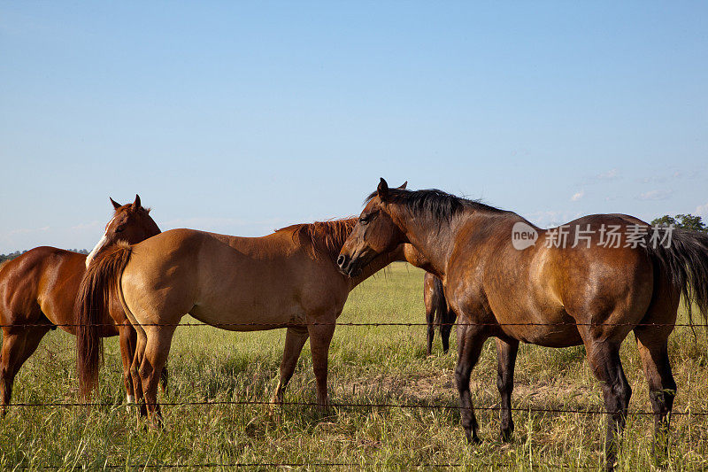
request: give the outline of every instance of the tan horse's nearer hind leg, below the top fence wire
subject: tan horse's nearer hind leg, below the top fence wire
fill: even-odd
[[[146,330],[148,343],[140,363],[140,378],[145,406],[154,426],[162,426],[162,412],[158,404],[158,383],[170,352],[175,328],[175,326],[153,326]]]

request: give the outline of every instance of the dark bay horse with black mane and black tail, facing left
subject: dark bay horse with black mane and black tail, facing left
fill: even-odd
[[[611,228],[625,239],[606,244]],[[651,237],[650,229],[656,231]],[[611,469],[632,392],[620,362],[620,344],[629,331],[635,332],[654,414],[652,450],[656,453],[658,445],[666,453],[676,393],[667,338],[681,294],[689,320],[691,302],[704,321],[708,315],[708,235],[671,229],[651,228],[622,214],[584,216],[542,229],[516,213],[440,190],[389,189],[381,179],[337,263],[343,274],[356,276],[399,244],[412,244],[427,259],[427,270],[443,281],[448,303],[459,316],[455,377],[470,443],[479,441],[470,375],[488,337],[497,338],[500,350],[497,386],[504,439],[513,429],[511,395],[519,342],[583,344],[611,418],[605,453],[605,466]],[[564,234],[574,245],[560,244]],[[656,235],[661,244],[650,244]],[[521,243],[516,246],[515,236]]]

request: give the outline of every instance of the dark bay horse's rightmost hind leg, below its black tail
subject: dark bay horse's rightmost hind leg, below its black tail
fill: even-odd
[[[658,328],[642,327],[635,329],[636,343],[642,356],[644,375],[649,383],[649,399],[654,411],[654,442],[651,453],[658,464],[666,460],[668,449],[668,431],[671,422],[673,398],[676,396],[676,383],[671,373],[671,364],[666,348],[666,337]]]

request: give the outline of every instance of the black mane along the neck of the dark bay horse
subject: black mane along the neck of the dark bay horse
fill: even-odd
[[[378,195],[374,191],[366,197],[365,203]],[[405,205],[414,214],[428,214],[443,220],[463,213],[466,210],[482,211],[488,213],[504,213],[504,210],[481,203],[478,200],[468,200],[456,197],[443,190],[403,190],[389,189],[387,201]]]

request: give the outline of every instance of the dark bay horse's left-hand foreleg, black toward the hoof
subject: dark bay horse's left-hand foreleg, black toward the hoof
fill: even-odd
[[[470,375],[480,359],[481,347],[488,335],[474,325],[458,326],[458,367],[455,368],[455,381],[458,385],[460,416],[462,429],[469,443],[479,443],[477,436],[479,425],[474,417],[472,395],[470,392]]]

